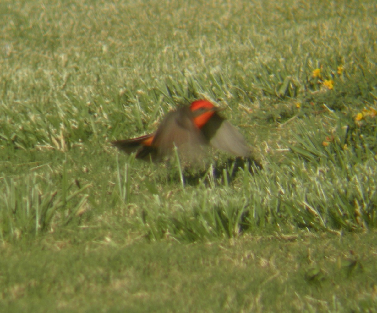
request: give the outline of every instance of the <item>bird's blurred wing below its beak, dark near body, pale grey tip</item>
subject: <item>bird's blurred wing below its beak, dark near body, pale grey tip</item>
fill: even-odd
[[[202,133],[216,149],[224,150],[239,157],[250,155],[245,138],[225,118],[215,113],[202,127]]]

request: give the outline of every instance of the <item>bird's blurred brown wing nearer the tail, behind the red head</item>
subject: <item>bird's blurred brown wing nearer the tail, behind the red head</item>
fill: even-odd
[[[167,114],[155,133],[152,146],[157,147],[161,155],[167,155],[175,145],[180,155],[193,159],[206,143],[208,141],[193,122],[190,108],[182,107]]]

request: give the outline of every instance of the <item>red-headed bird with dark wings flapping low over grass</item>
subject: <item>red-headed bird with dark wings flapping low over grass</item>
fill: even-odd
[[[250,147],[245,138],[219,114],[220,110],[208,100],[196,100],[170,111],[155,132],[112,141],[112,145],[126,153],[136,153],[136,159],[152,162],[169,157],[175,147],[187,160],[200,158],[205,146],[248,157]]]

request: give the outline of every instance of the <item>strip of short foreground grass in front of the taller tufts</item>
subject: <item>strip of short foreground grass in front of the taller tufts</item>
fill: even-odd
[[[6,259],[0,264],[8,269],[2,274],[3,310],[364,311],[375,306],[375,233],[301,232],[182,245],[130,242],[113,231],[104,240],[87,240],[95,232],[76,230],[72,242],[46,236],[28,247],[3,248]]]

